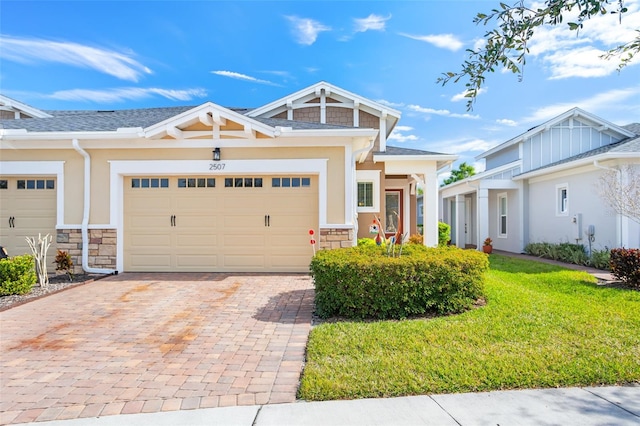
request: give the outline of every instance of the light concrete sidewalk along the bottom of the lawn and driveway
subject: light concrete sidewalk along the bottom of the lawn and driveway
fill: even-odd
[[[116,425],[640,425],[640,385],[295,402],[38,422]]]

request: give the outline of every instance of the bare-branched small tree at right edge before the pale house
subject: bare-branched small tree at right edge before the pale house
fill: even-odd
[[[600,197],[616,213],[640,223],[640,174],[633,166],[607,170],[597,186]]]

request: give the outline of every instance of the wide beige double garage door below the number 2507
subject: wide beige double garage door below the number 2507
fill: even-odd
[[[315,176],[128,177],[125,271],[307,272]]]

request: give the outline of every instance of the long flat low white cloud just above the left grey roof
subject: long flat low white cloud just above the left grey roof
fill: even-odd
[[[161,96],[163,98],[177,100],[177,101],[189,101],[194,98],[203,98],[207,96],[207,92],[204,89],[159,89],[159,88],[139,88],[139,87],[123,87],[118,89],[106,89],[106,90],[87,90],[87,89],[72,89],[72,90],[60,90],[48,95],[48,98],[58,99],[63,101],[83,101],[83,102],[96,102],[96,103],[108,103],[108,102],[123,102],[131,100],[139,100],[150,98],[153,96]]]

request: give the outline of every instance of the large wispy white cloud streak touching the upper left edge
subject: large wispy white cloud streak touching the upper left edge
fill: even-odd
[[[151,70],[133,59],[132,52],[116,52],[73,42],[0,36],[0,58],[24,64],[55,62],[91,68],[121,80],[138,81]]]

